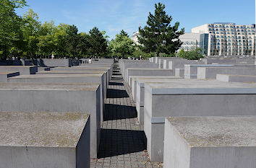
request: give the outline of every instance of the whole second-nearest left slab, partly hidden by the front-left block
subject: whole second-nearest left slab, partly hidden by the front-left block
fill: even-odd
[[[99,84],[0,83],[0,111],[90,112],[90,158],[101,138]]]

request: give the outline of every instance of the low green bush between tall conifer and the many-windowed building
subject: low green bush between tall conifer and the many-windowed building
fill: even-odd
[[[179,50],[178,57],[184,58],[184,59],[187,59],[187,60],[199,60],[200,58],[203,58],[202,49],[201,48],[196,48],[195,50],[185,51],[182,48],[182,50]]]

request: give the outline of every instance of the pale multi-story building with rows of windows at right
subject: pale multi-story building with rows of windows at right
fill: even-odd
[[[255,25],[216,22],[192,28],[208,56],[255,55]],[[206,54],[207,53],[207,54]]]

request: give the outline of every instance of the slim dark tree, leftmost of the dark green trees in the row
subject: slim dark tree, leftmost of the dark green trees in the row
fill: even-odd
[[[75,57],[77,56],[77,45],[79,40],[78,29],[75,25],[67,27],[67,51],[68,53]]]

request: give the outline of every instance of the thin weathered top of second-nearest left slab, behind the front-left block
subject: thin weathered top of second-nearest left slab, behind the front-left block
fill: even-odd
[[[35,83],[0,83],[0,90],[64,90],[96,91],[99,84],[35,84]]]

